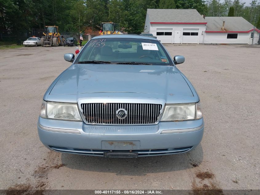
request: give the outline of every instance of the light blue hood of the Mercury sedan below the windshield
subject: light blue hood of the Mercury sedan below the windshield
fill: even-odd
[[[58,79],[50,95],[104,92],[193,96],[173,66],[119,64],[75,64]]]

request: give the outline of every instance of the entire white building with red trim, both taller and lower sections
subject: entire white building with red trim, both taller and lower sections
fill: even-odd
[[[144,32],[161,43],[197,44],[257,44],[260,34],[242,17],[205,18],[195,9],[147,9]]]

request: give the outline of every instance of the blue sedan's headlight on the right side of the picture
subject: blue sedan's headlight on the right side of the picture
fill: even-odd
[[[201,118],[202,112],[199,102],[196,104],[166,104],[161,121],[195,120]]]

